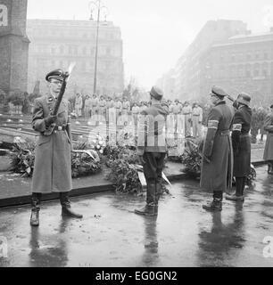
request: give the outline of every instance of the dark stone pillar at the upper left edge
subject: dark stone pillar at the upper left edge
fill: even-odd
[[[28,89],[27,7],[27,0],[0,2],[0,89],[6,94]]]

